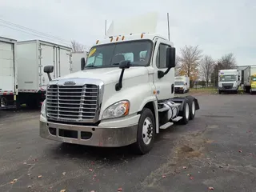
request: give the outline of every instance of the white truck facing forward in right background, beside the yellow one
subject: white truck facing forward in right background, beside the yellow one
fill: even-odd
[[[224,92],[238,93],[241,84],[241,70],[219,70],[218,71],[218,94]]]

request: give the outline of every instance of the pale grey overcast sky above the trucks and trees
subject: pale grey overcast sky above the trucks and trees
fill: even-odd
[[[62,38],[61,44],[75,39],[90,46],[104,37],[105,20],[110,24],[148,11],[159,13],[158,34],[166,37],[166,13],[170,13],[171,41],[178,50],[198,45],[214,59],[234,53],[238,65],[256,65],[255,0],[0,0],[0,36],[52,41],[49,36],[21,32],[3,22],[7,21]]]

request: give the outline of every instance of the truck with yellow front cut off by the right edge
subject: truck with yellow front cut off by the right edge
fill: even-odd
[[[246,93],[254,94],[256,92],[256,66],[248,66],[244,72],[245,83],[244,90]]]

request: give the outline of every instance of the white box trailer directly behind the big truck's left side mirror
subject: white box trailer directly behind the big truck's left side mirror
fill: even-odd
[[[72,49],[52,42],[30,40],[18,42],[18,103],[37,107],[45,99],[49,83],[44,66],[54,66],[53,78],[73,72]]]

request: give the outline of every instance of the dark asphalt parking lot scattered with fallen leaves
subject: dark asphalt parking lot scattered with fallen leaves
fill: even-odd
[[[256,191],[256,96],[197,98],[194,120],[162,131],[143,156],[48,141],[39,110],[2,111],[0,191]]]

